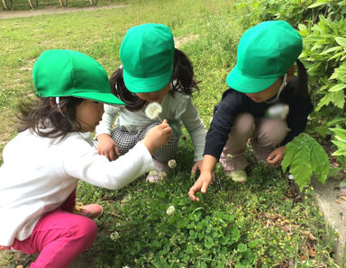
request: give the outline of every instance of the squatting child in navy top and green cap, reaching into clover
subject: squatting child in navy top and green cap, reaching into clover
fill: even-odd
[[[192,201],[199,201],[196,192],[207,191],[218,161],[233,181],[246,182],[249,138],[259,161],[281,164],[285,145],[305,130],[313,109],[298,59],[302,48],[299,33],[283,21],[261,22],[241,36],[237,63],[226,80],[229,88],[215,106],[206,135],[201,174],[188,192]]]

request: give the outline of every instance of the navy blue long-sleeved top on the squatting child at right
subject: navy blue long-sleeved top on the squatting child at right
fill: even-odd
[[[281,145],[286,145],[297,135],[305,130],[307,116],[313,110],[310,97],[301,97],[294,94],[296,77],[287,84],[278,97],[279,103],[287,103],[289,112],[287,115],[287,126],[290,131]],[[231,132],[235,117],[242,112],[249,112],[255,118],[265,116],[264,112],[273,104],[255,103],[245,94],[232,88],[228,88],[224,93],[220,103],[214,108],[214,118],[210,124],[210,129],[206,134],[205,153],[220,158],[223,147]]]

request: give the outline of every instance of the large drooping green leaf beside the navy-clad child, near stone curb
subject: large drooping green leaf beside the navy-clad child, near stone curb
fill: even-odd
[[[284,172],[289,166],[301,191],[310,183],[313,174],[321,183],[329,174],[328,155],[314,138],[306,134],[300,134],[287,144],[281,166]]]

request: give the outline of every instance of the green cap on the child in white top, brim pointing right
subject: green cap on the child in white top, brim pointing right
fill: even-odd
[[[124,104],[111,93],[107,73],[94,58],[66,49],[44,51],[32,69],[41,97],[73,96],[101,103]]]

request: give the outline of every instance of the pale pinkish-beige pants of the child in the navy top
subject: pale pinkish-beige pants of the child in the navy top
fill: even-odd
[[[223,147],[220,163],[225,171],[244,169],[246,144],[252,138],[253,153],[259,161],[266,161],[288,132],[287,122],[281,119],[257,118],[250,113],[241,113],[235,118],[231,133]],[[227,157],[231,155],[231,157]]]

